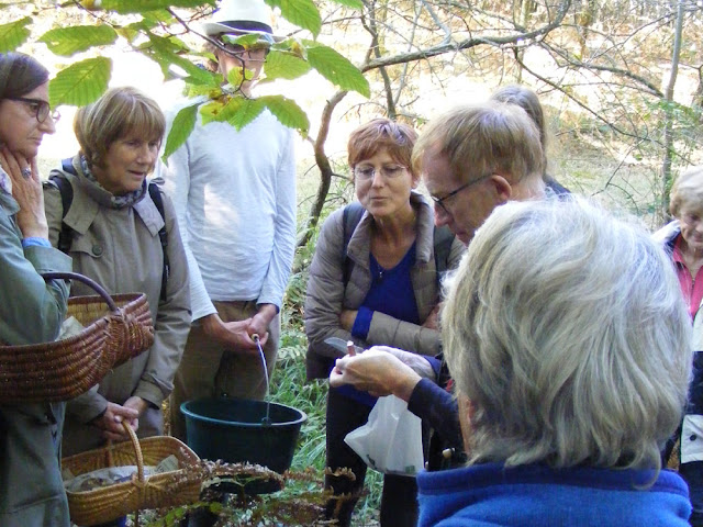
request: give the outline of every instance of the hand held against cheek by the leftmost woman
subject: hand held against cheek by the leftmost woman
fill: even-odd
[[[44,213],[44,192],[40,180],[36,158],[29,161],[22,156],[12,154],[7,146],[0,148],[0,165],[12,180],[12,195],[20,205],[16,214],[18,227],[22,236],[48,239],[48,225]],[[30,170],[30,176],[22,172]]]

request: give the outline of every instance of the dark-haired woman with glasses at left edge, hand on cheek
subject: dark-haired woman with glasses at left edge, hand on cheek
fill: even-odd
[[[0,55],[0,343],[54,340],[68,284],[40,272],[70,271],[52,248],[36,155],[55,131],[48,71],[34,58]],[[68,526],[60,475],[64,403],[0,405],[0,525]]]

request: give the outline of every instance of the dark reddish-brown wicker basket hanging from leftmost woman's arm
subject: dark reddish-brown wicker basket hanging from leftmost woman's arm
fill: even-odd
[[[110,298],[82,274],[52,272],[43,277],[76,279],[99,295],[68,300],[68,315],[86,326],[78,335],[53,343],[0,346],[0,404],[68,401],[154,343],[154,325],[143,293]]]

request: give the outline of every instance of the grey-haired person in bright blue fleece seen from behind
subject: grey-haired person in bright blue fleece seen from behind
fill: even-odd
[[[691,374],[678,289],[645,228],[584,200],[496,209],[443,311],[469,461],[417,475],[420,525],[688,525],[659,453]]]

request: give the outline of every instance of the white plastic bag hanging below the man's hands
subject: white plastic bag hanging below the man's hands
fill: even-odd
[[[422,422],[395,395],[379,397],[369,421],[344,441],[366,464],[384,474],[415,475],[424,464]]]

